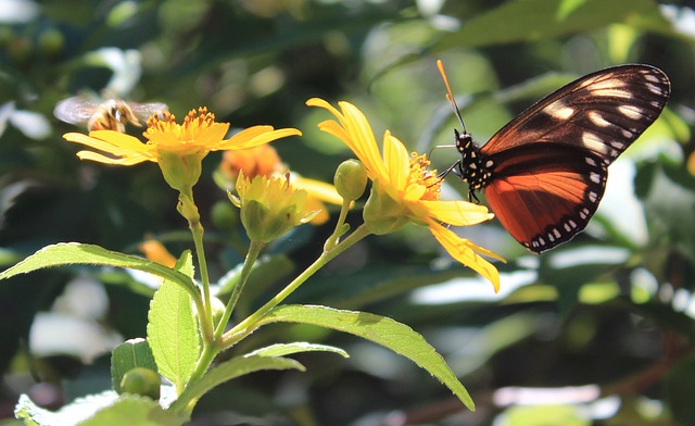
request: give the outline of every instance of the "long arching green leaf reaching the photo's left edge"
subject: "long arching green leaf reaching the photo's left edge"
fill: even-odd
[[[147,259],[79,242],[61,242],[47,246],[16,265],[0,273],[0,279],[10,278],[18,274],[26,274],[43,267],[75,264],[129,267],[131,270],[144,271],[181,286],[191,295],[198,293],[198,287],[193,280],[177,271],[148,261]]]

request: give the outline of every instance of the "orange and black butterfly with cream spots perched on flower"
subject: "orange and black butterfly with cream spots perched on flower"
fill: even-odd
[[[502,225],[535,253],[581,233],[606,189],[608,165],[664,110],[667,75],[630,64],[585,75],[541,99],[479,147],[466,131],[441,61],[438,66],[463,126],[454,130],[460,159],[453,172],[469,201],[485,199]]]

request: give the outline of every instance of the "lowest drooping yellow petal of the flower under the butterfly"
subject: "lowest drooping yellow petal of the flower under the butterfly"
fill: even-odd
[[[500,291],[500,273],[497,268],[477,253],[490,254],[492,252],[482,249],[470,240],[458,237],[451,229],[439,224],[430,224],[429,229],[452,258],[488,278],[492,283],[495,292]],[[496,254],[495,258],[502,259]]]

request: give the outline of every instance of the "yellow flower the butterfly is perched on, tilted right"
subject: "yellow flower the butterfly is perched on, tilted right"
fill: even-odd
[[[408,154],[403,143],[389,130],[383,136],[383,156],[379,152],[371,126],[364,114],[349,102],[339,102],[340,111],[323,99],[309,99],[309,106],[331,112],[338,121],[318,125],[357,155],[372,180],[365,204],[365,224],[375,234],[393,231],[406,223],[427,226],[434,238],[458,262],[478,272],[500,289],[497,270],[480,254],[502,260],[497,254],[458,237],[448,226],[475,225],[493,217],[483,205],[467,201],[439,199],[441,179],[428,170],[426,155]]]

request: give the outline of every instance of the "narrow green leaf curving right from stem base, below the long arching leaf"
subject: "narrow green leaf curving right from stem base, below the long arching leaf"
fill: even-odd
[[[205,373],[205,376],[200,381],[188,386],[179,399],[169,406],[169,410],[174,412],[186,410],[191,401],[201,398],[214,387],[239,376],[263,369],[291,368],[300,372],[306,369],[300,362],[289,358],[245,355],[231,359]]]

